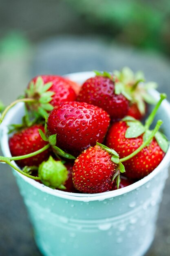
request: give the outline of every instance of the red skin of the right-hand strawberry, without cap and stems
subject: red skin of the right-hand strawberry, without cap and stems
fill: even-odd
[[[143,143],[142,135],[137,138],[125,138],[127,128],[126,122],[116,122],[110,127],[106,137],[106,146],[115,149],[120,158],[130,155]],[[123,162],[126,177],[133,179],[145,177],[160,164],[164,155],[165,153],[154,138],[149,146],[146,146],[137,155]]]

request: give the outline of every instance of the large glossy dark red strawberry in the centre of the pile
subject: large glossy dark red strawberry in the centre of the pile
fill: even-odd
[[[57,146],[77,156],[96,141],[102,143],[109,123],[109,115],[102,108],[73,101],[55,107],[47,125],[51,135],[57,134]]]

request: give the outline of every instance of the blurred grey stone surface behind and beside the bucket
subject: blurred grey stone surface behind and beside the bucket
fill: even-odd
[[[111,71],[128,65],[133,70],[143,70],[147,80],[159,82],[159,91],[166,92],[170,99],[170,63],[163,56],[154,53],[121,48],[111,42],[107,43],[90,36],[84,38],[63,36],[37,45],[31,56],[30,66],[25,65],[24,73],[27,79],[42,73],[66,74],[93,69]],[[10,67],[12,68],[9,79],[15,72],[14,61],[13,66]],[[8,72],[8,69],[6,71]],[[8,95],[12,100],[15,95],[21,94],[26,83],[24,85],[20,82],[24,80],[21,73],[17,81],[14,81],[13,87],[10,83],[7,83],[3,90],[0,87],[0,98],[4,99]],[[0,164],[0,195],[0,256],[40,256],[15,179],[10,168],[5,164]],[[170,178],[167,180],[163,194],[155,240],[146,256],[169,255]]]

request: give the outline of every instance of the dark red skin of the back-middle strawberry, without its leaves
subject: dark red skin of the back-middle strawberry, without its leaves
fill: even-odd
[[[112,120],[121,119],[128,112],[128,100],[122,94],[115,94],[115,84],[104,76],[87,79],[77,100],[103,108]]]

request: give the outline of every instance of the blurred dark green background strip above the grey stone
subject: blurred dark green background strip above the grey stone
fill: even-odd
[[[170,1],[0,0],[1,52],[11,52],[9,40],[22,48],[24,39],[59,34],[97,34],[170,56]]]

